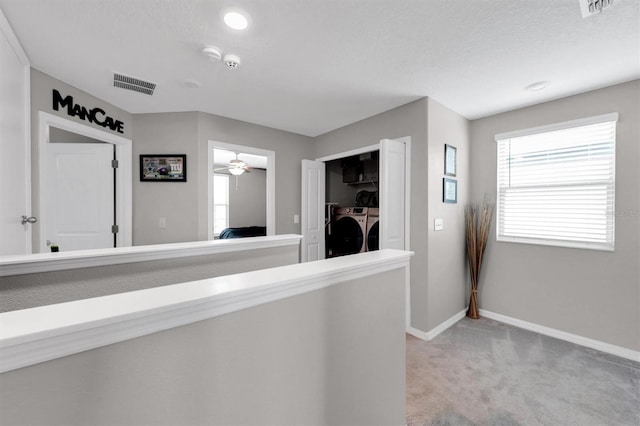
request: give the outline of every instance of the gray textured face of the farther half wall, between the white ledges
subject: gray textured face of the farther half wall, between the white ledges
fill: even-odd
[[[294,263],[298,245],[0,277],[0,312]]]

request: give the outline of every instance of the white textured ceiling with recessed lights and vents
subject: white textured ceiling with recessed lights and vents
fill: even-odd
[[[252,25],[224,26],[239,7]],[[316,136],[430,96],[479,118],[640,78],[640,1],[0,0],[32,66],[131,113],[204,111]],[[230,70],[206,44],[240,56]],[[113,72],[158,84],[112,87]],[[200,88],[187,88],[194,79]],[[541,92],[530,83],[548,80]]]

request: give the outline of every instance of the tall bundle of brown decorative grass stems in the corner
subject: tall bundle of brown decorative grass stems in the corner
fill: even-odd
[[[481,204],[468,204],[464,208],[464,218],[467,235],[467,257],[469,258],[469,274],[471,275],[471,299],[467,316],[478,319],[478,277],[482,266],[482,257],[489,239],[491,217],[494,204],[487,203],[486,197]]]

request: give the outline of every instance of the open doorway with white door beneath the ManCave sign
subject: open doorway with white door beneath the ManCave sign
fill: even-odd
[[[40,112],[38,144],[40,252],[130,246],[131,140]]]

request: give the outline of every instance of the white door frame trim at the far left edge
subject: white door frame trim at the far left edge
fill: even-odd
[[[4,15],[2,9],[0,9],[0,32],[4,35],[5,39],[13,49],[18,60],[22,63],[23,72],[24,72],[24,132],[25,132],[25,140],[24,142],[24,176],[20,176],[19,178],[24,178],[24,215],[31,216],[31,62],[29,61],[29,57],[26,52],[22,48],[20,41],[16,37],[13,32],[13,28],[11,28],[11,24]],[[8,183],[5,183],[8,184]],[[28,228],[25,232],[25,253],[21,254],[31,254],[32,253],[32,229],[31,225],[28,225]],[[17,253],[16,253],[17,254]]]

